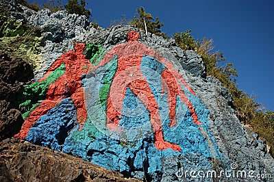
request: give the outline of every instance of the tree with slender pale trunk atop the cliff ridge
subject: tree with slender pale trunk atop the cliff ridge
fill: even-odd
[[[146,34],[147,32],[150,32],[151,34],[168,38],[166,34],[161,32],[161,27],[164,26],[164,23],[160,23],[158,17],[156,17],[156,21],[154,21],[153,16],[150,13],[145,12],[145,8],[142,6],[136,11],[134,18],[129,22],[130,25],[134,25],[135,27],[144,30]]]

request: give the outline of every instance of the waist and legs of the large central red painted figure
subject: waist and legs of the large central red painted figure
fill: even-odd
[[[110,95],[106,106],[106,125],[110,130],[117,129],[121,119],[125,89],[129,87],[149,110],[155,148],[161,151],[166,148],[181,151],[177,144],[164,141],[158,103],[155,101],[155,96],[149,87],[149,83],[147,83],[147,79],[142,75],[140,70],[141,61],[142,56],[140,55],[122,57],[118,60],[118,69],[110,87]]]

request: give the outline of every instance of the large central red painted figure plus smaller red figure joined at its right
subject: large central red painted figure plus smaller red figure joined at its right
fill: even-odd
[[[166,148],[172,148],[174,151],[181,151],[180,146],[167,142],[164,140],[162,122],[160,113],[158,110],[158,103],[155,101],[155,97],[149,87],[149,83],[145,79],[140,70],[141,60],[143,55],[151,57],[159,57],[158,61],[162,62],[167,70],[162,73],[162,90],[168,92],[169,103],[169,118],[171,123],[170,127],[176,125],[176,98],[179,98],[187,105],[190,114],[193,118],[193,122],[197,125],[201,124],[197,118],[197,114],[192,104],[184,94],[181,84],[182,82],[192,94],[195,94],[193,90],[187,85],[182,76],[174,70],[171,62],[166,61],[159,53],[156,53],[152,49],[149,49],[144,44],[137,42],[139,34],[136,31],[129,31],[127,36],[127,42],[114,46],[108,53],[105,54],[103,60],[97,65],[91,67],[91,72],[96,68],[107,64],[114,55],[118,56],[118,68],[112,85],[110,87],[110,94],[108,97],[108,103],[106,107],[107,112],[107,127],[110,130],[116,130],[121,119],[121,110],[123,106],[123,99],[125,97],[126,87],[129,87],[132,92],[144,105],[147,107],[150,113],[151,127],[154,133],[155,148],[164,150]],[[165,83],[164,84],[164,80]]]

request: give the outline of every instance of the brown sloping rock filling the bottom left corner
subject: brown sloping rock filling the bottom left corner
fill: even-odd
[[[0,143],[0,181],[138,181],[29,142]]]

